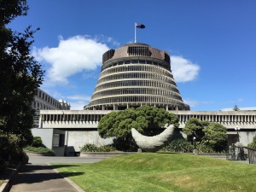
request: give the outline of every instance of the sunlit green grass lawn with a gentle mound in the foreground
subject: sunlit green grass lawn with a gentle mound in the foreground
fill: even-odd
[[[256,166],[191,154],[131,154],[54,165],[86,192],[256,191]]]

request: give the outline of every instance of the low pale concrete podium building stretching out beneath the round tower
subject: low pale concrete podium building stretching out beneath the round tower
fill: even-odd
[[[112,143],[112,139],[102,139],[97,131],[98,121],[112,111],[106,110],[41,110],[39,130],[65,131],[65,146],[70,152],[79,152],[86,143],[98,146]],[[244,145],[251,143],[256,131],[255,111],[170,111],[177,114],[179,128],[182,128],[190,118],[197,118],[209,122],[216,122],[227,128],[230,143],[236,143],[239,139]],[[239,127],[240,131],[235,131]],[[43,133],[40,133],[41,137]],[[45,133],[46,134],[46,133]],[[46,137],[53,137],[47,133]],[[44,140],[43,140],[44,141]],[[48,143],[49,140],[45,139]]]

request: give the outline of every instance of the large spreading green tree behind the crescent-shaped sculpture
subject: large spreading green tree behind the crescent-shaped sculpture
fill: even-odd
[[[100,120],[98,131],[103,138],[115,137],[114,145],[117,149],[129,151],[136,149],[131,128],[136,128],[144,135],[153,136],[162,131],[165,125],[177,123],[177,116],[163,108],[143,106],[108,113]]]

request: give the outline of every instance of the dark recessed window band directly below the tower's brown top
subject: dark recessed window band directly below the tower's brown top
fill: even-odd
[[[129,65],[129,64],[149,64],[149,65],[164,67],[167,70],[170,70],[170,64],[168,64],[166,62],[161,63],[161,62],[148,61],[148,60],[131,60],[131,61],[119,61],[119,62],[116,62],[116,63],[105,63],[102,66],[102,71],[106,70],[109,67]]]

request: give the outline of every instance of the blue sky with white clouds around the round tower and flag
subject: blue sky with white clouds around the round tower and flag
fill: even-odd
[[[134,41],[165,49],[191,110],[256,106],[256,1],[37,0],[9,27],[36,29],[32,55],[46,70],[42,89],[82,109],[102,53]]]

